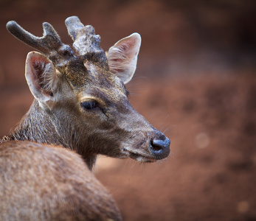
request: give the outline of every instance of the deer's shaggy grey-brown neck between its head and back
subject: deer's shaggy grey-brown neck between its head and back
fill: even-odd
[[[39,107],[36,100],[32,103],[30,110],[21,119],[9,136],[4,136],[4,141],[33,141],[42,144],[53,144],[66,147],[82,155],[89,169],[95,164],[97,154],[86,151],[86,147],[77,146],[74,136],[75,129],[72,124],[63,127],[63,122],[53,117],[54,113],[44,111]]]

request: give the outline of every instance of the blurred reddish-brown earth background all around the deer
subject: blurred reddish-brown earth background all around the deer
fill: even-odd
[[[131,103],[171,140],[156,164],[100,156],[94,169],[124,220],[256,220],[256,1],[0,1],[0,136],[28,111],[32,49],[7,21],[72,43],[64,21],[91,24],[107,50],[142,35]]]

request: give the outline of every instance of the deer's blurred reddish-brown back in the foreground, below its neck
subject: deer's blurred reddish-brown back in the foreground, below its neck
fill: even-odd
[[[121,220],[75,152],[27,141],[0,145],[0,220]]]

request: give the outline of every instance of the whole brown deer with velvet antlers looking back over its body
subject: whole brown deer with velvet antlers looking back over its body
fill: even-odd
[[[27,55],[25,78],[34,101],[0,139],[1,220],[122,220],[91,170],[97,155],[160,161],[170,139],[129,102],[141,37],[133,33],[100,47],[94,27],[66,18],[73,43],[44,22],[43,37],[15,21],[8,31],[38,50]]]

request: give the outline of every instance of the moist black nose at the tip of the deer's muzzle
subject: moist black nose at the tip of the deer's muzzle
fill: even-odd
[[[153,138],[149,149],[157,160],[166,158],[170,153],[170,140],[166,136],[162,138]]]

